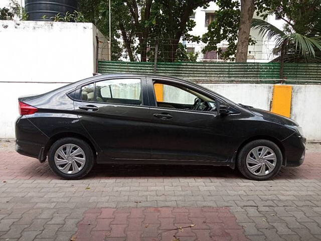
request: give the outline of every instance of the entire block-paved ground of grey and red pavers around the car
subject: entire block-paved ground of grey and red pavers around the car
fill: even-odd
[[[97,165],[66,181],[0,144],[0,241],[321,240],[321,145],[271,181],[226,167]]]

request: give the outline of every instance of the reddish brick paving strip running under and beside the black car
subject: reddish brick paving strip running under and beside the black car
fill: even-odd
[[[14,179],[60,179],[49,168],[48,162],[40,163],[35,158],[16,152],[0,152],[0,181]],[[175,165],[96,165],[87,179],[115,177],[217,177],[242,178],[241,174],[228,167],[193,166],[182,168]],[[321,177],[320,153],[307,153],[299,167],[282,168],[274,179],[319,179]]]

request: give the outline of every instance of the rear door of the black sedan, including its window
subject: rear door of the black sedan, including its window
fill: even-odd
[[[112,78],[80,86],[75,110],[112,159],[150,159],[151,117],[145,78]]]

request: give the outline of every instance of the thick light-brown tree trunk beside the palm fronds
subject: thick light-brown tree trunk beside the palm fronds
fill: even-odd
[[[235,62],[246,62],[249,47],[251,22],[254,14],[254,0],[241,0],[241,18],[237,38]]]

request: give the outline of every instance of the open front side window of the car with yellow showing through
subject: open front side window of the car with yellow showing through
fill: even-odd
[[[213,111],[216,102],[183,85],[154,82],[154,93],[158,107]]]

